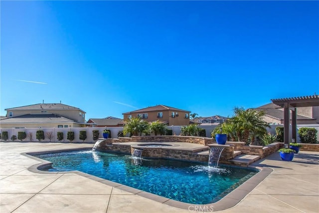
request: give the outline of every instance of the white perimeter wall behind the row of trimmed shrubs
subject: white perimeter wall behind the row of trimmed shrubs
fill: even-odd
[[[216,127],[217,125],[200,125],[200,128],[203,128],[206,130],[206,137],[210,138],[211,137],[211,132],[212,130]],[[270,125],[271,128],[267,128],[267,132],[271,133],[271,134],[276,134],[276,127],[277,126],[283,126],[283,125]],[[179,135],[180,134],[180,127],[181,126],[167,126],[167,129],[172,130],[173,135]],[[301,127],[311,127],[311,128],[315,128],[317,129],[317,131],[319,132],[319,124],[298,124],[297,125],[297,142],[300,142],[300,138],[299,138],[299,134],[298,134],[298,130]],[[44,131],[44,136],[45,139],[42,140],[43,142],[49,142],[50,140],[47,137],[47,133],[48,132],[52,132],[53,133],[53,138],[52,138],[52,142],[58,142],[57,140],[57,132],[63,132],[64,135],[64,140],[62,140],[61,142],[69,142],[66,137],[67,137],[67,132],[72,131],[74,132],[74,141],[73,142],[83,142],[82,140],[79,139],[80,136],[80,131],[81,130],[85,130],[86,131],[86,140],[84,142],[86,143],[94,143],[93,141],[93,134],[92,131],[93,130],[99,130],[99,138],[103,138],[103,130],[105,129],[105,127],[74,127],[74,128],[41,128],[41,130]],[[111,136],[112,138],[118,138],[118,132],[119,131],[123,131],[123,127],[108,127],[108,129],[111,131]],[[290,137],[291,137],[291,126],[290,126]],[[3,131],[7,131],[8,132],[8,141],[11,141],[11,136],[15,135],[17,137],[18,132],[24,131],[27,135],[26,139],[24,139],[23,141],[30,141],[28,135],[31,132],[32,133],[32,141],[38,141],[36,139],[36,131],[39,130],[39,128],[24,128],[24,129],[15,129],[15,128],[9,128],[9,129],[5,129],[5,128],[0,128],[0,132]],[[3,141],[3,140],[1,140]],[[17,140],[19,141],[19,140]],[[319,141],[319,134],[317,134],[317,141]]]

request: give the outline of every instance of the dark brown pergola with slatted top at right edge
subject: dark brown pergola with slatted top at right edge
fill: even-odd
[[[297,108],[319,106],[319,95],[315,93],[311,96],[271,99],[271,101],[284,108],[284,147],[287,147],[285,145],[290,143],[290,110],[292,111],[292,138],[297,139]]]

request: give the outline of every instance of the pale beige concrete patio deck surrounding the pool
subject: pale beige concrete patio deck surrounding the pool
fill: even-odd
[[[76,173],[40,174],[27,168],[41,163],[24,152],[92,148],[93,144],[0,143],[0,213],[182,213],[210,212],[190,205],[171,207],[121,187],[108,186]],[[293,162],[279,154],[254,166],[274,171],[233,208],[223,213],[318,213],[319,153],[303,152]],[[97,179],[98,180],[98,179]],[[200,189],[199,192],[200,193]],[[235,198],[234,198],[235,199]]]

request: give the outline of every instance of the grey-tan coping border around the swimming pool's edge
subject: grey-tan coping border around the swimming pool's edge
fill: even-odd
[[[31,154],[47,154],[47,153],[56,153],[56,152],[68,152],[68,151],[79,151],[79,150],[87,150],[88,148],[80,148],[80,149],[61,149],[61,150],[51,150],[51,151],[42,151],[42,152],[25,152],[21,153],[21,155],[26,156],[28,158],[40,161],[41,163],[34,164],[30,167],[28,167],[28,171],[38,174],[68,174],[68,173],[74,173],[86,178],[89,178],[91,180],[100,182],[102,184],[115,187],[117,189],[124,190],[126,192],[132,193],[134,195],[139,195],[141,197],[151,199],[153,201],[166,204],[168,206],[185,209],[185,210],[206,210],[206,211],[221,211],[226,210],[229,208],[234,207],[237,205],[241,200],[243,200],[254,188],[256,188],[266,177],[268,177],[274,170],[268,167],[260,167],[260,166],[253,166],[249,165],[248,168],[251,169],[257,169],[259,172],[255,174],[253,177],[245,181],[243,184],[241,184],[239,187],[237,187],[235,190],[228,193],[225,197],[223,197],[221,200],[211,203],[211,204],[189,204],[184,203],[180,201],[175,201],[169,198],[165,198],[162,196],[158,196],[149,192],[145,192],[139,189],[135,189],[133,187],[129,187],[123,184],[119,184],[113,181],[109,181],[103,178],[99,178],[93,175],[89,175],[84,172],[80,171],[67,171],[67,172],[46,172],[41,171],[39,169],[48,168],[51,167],[52,163],[49,161],[45,161],[43,159],[37,158],[32,156]]]

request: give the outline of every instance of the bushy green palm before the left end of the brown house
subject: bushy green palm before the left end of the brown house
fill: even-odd
[[[142,133],[149,132],[150,124],[140,117],[131,118],[128,123],[123,128],[123,133],[126,135],[130,133],[131,135],[142,135]]]

